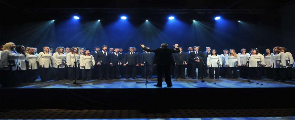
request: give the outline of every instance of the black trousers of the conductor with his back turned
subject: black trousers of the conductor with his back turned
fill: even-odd
[[[163,82],[163,72],[165,75],[165,82],[167,86],[172,86],[171,76],[170,76],[171,65],[157,65],[157,78],[158,85],[162,85]]]

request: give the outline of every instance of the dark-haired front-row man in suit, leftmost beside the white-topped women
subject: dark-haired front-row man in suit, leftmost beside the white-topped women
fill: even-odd
[[[107,80],[111,80],[109,76],[110,65],[112,65],[111,53],[106,51],[108,46],[102,46],[102,51],[96,53],[94,58],[96,65],[99,65],[99,80],[102,80],[103,75]]]

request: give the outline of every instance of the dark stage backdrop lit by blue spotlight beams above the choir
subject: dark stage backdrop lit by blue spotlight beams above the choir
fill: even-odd
[[[79,14],[79,20],[74,20],[73,14],[6,17],[1,19],[0,40],[1,44],[37,47],[38,52],[43,46],[78,46],[93,51],[102,45],[122,47],[127,52],[130,46],[140,48],[140,44],[145,44],[154,49],[165,42],[170,47],[180,44],[184,51],[193,46],[205,51],[210,46],[218,54],[231,48],[237,53],[241,48],[259,48],[264,53],[265,48],[273,46],[286,46],[294,53],[294,37],[289,37],[294,35],[294,29],[285,29],[294,28],[294,19],[288,20],[277,11],[261,15],[221,14],[218,21],[214,20],[216,14],[125,14],[127,20],[121,20],[121,15],[124,14]],[[175,19],[168,20],[170,15]]]

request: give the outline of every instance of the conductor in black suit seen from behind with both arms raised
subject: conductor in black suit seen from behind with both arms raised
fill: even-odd
[[[158,84],[154,85],[157,87],[162,87],[163,82],[163,72],[165,74],[165,82],[167,87],[172,87],[171,76],[170,76],[170,67],[171,65],[175,65],[175,62],[172,57],[172,53],[178,53],[179,48],[178,44],[175,44],[174,47],[176,50],[168,48],[167,43],[162,43],[161,48],[157,48],[155,50],[149,50],[145,47],[145,45],[140,45],[143,50],[148,52],[154,52],[155,57],[153,60],[153,64],[157,65],[157,75],[158,75]]]

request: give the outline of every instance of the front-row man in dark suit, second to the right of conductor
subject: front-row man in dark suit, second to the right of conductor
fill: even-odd
[[[196,68],[198,68],[198,78],[203,78],[203,65],[205,55],[203,52],[199,51],[199,46],[194,46],[194,52],[189,53],[189,59],[191,59],[191,75],[193,79],[196,79]]]

